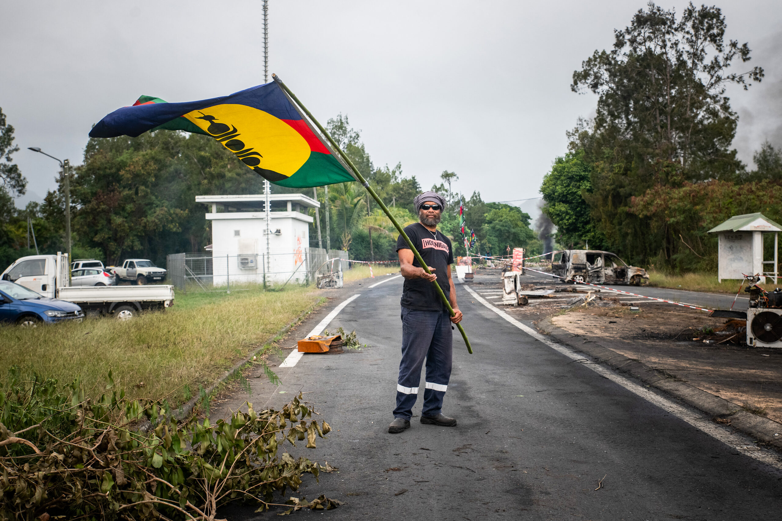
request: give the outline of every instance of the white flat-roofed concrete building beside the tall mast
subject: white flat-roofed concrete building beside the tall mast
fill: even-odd
[[[213,284],[303,281],[310,246],[307,209],[320,203],[300,193],[274,194],[270,200],[270,226],[266,229],[263,194],[250,196],[196,196],[211,212]],[[221,210],[221,211],[218,211]],[[267,243],[268,238],[268,243]]]

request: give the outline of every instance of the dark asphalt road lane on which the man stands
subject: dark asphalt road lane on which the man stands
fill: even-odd
[[[355,292],[361,296],[329,326],[356,329],[369,347],[307,354],[295,367],[275,369],[282,386],[266,383],[254,390],[250,401],[256,408],[307,392],[334,429],[328,440],[318,439],[317,449],[289,448],[339,467],[321,474],[320,483],[305,478],[296,495],[326,494],[347,505],[293,516],[780,519],[778,469],[573,363],[475,301],[463,286],[457,295],[475,354],[454,336],[454,371],[443,408],[458,426],[425,426],[416,416],[411,429],[387,433],[400,361],[401,286],[400,278],[374,289],[362,286]],[[300,330],[309,331],[320,318]],[[416,415],[422,399],[423,385]],[[223,514],[261,519],[252,508]]]

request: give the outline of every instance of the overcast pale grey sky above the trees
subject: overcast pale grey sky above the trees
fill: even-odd
[[[612,45],[640,1],[279,2],[270,0],[270,75],[325,123],[347,114],[376,165],[402,163],[425,188],[455,171],[487,201],[538,196],[565,131],[594,110],[569,85]],[[91,124],[139,95],[169,102],[263,83],[261,2],[3,2],[0,107],[22,148],[30,198],[55,186],[40,146],[81,163]],[[681,11],[686,2],[660,2]],[[782,9],[719,2],[727,38],[748,41],[766,80],[731,91],[744,161],[782,144]],[[254,175],[247,171],[248,175]],[[20,202],[20,203],[21,203]],[[20,203],[17,203],[21,206]]]

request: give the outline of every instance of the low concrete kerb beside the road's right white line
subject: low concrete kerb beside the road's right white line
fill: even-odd
[[[734,404],[724,398],[707,393],[705,390],[698,389],[689,383],[672,379],[669,376],[660,375],[655,369],[650,368],[644,363],[627,358],[615,350],[603,347],[591,339],[584,339],[582,336],[574,335],[561,329],[551,322],[551,318],[543,318],[537,324],[537,329],[548,336],[552,336],[559,342],[564,343],[574,350],[581,351],[590,355],[596,361],[619,369],[619,371],[633,375],[648,386],[653,386],[659,390],[679,398],[686,404],[712,415],[714,419],[723,419],[730,421],[730,426],[740,430],[742,433],[749,434],[758,440],[772,445],[777,449],[782,449],[782,425],[771,419],[760,415],[744,411],[740,405]],[[775,436],[775,434],[777,436]]]

